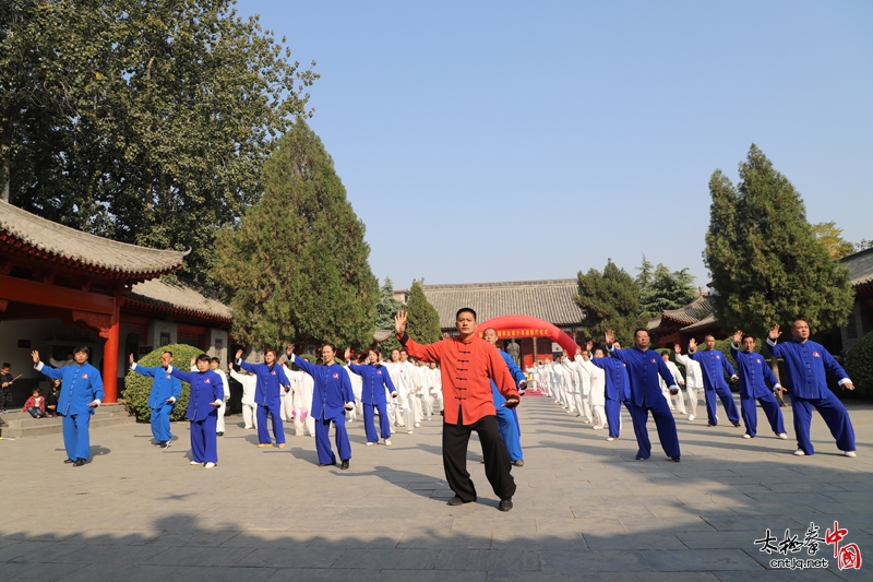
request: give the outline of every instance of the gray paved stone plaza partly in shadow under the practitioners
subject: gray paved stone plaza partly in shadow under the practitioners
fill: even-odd
[[[542,396],[519,408],[526,466],[515,509],[498,499],[474,439],[478,503],[450,508],[438,420],[393,447],[364,447],[350,424],[351,468],[316,466],[314,441],[258,449],[228,418],[215,470],[189,465],[188,427],[172,448],[147,425],[92,431],[92,461],[63,464],[60,435],[0,441],[0,580],[116,581],[742,581],[873,580],[873,406],[850,403],[858,458],[813,418],[814,456],[798,458],[760,413],[760,436],[677,416],[682,462],[636,452],[630,418],[617,442]],[[786,424],[790,427],[790,408]],[[650,436],[657,443],[654,424]],[[789,428],[789,436],[792,435]],[[860,570],[772,570],[754,541],[803,539],[839,522]],[[806,558],[803,553],[788,557]],[[870,561],[868,561],[870,560]]]

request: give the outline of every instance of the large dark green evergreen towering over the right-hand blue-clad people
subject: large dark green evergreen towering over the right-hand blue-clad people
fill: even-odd
[[[762,337],[770,325],[802,317],[813,331],[846,322],[852,306],[845,265],[806,222],[800,194],[754,144],[737,189],[716,170],[704,260],[723,329]]]

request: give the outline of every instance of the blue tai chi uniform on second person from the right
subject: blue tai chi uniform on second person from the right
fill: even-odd
[[[737,371],[740,377],[740,411],[743,415],[743,423],[745,423],[745,433],[754,437],[757,432],[756,400],[761,403],[761,409],[767,416],[773,431],[776,435],[784,433],[782,411],[779,409],[779,403],[767,388],[769,384],[773,390],[776,390],[781,388],[781,384],[767,365],[767,360],[756,352],[751,354],[740,352],[733,344],[730,346],[730,355],[737,360],[739,368]]]

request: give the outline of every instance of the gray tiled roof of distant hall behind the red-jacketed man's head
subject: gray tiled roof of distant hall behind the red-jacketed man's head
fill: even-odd
[[[582,309],[573,301],[575,278],[423,285],[424,296],[440,313],[440,328],[455,326],[462,307],[476,310],[478,321],[500,316],[530,316],[555,325],[577,325]]]

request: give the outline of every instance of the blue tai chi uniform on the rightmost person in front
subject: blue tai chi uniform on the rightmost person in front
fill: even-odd
[[[806,454],[815,452],[810,441],[812,408],[815,407],[837,440],[837,448],[840,451],[854,451],[854,429],[849,413],[836,394],[827,388],[828,373],[839,381],[839,385],[851,382],[842,366],[837,364],[822,344],[810,340],[805,342],[793,340],[787,344],[776,345],[767,338],[766,349],[785,360],[791,408],[794,411],[798,449]]]

